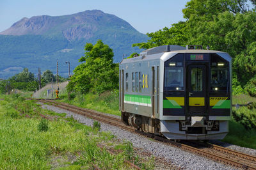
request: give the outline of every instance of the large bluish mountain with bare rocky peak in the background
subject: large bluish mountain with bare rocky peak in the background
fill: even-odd
[[[86,42],[95,43],[98,39],[113,49],[114,62],[122,61],[123,54],[141,51],[131,47],[132,43],[148,40],[125,20],[100,10],[57,17],[24,17],[0,33],[0,78],[25,67],[34,73],[38,67],[54,71],[57,59],[59,72],[65,76],[65,61],[70,61],[73,70],[84,55]]]

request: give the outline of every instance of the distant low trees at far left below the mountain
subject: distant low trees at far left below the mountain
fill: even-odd
[[[42,74],[41,87],[44,87],[51,81],[56,82],[56,75],[54,75],[51,70],[46,70]],[[58,81],[63,82],[67,81],[67,79],[58,76]],[[38,90],[38,79],[36,79],[33,73],[29,72],[28,68],[24,68],[22,72],[17,73],[13,77],[0,81],[0,93],[6,93],[12,89],[19,89],[23,91],[35,91],[36,89]]]

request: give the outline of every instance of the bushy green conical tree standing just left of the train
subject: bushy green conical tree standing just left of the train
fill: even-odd
[[[68,83],[68,91],[102,93],[118,88],[118,64],[113,63],[113,51],[98,40],[95,45],[86,43],[81,65],[74,70]]]

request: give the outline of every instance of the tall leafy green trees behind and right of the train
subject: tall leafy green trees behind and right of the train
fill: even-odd
[[[191,0],[182,10],[186,21],[147,33],[142,49],[159,45],[203,45],[232,56],[233,92],[256,97],[256,1]]]

